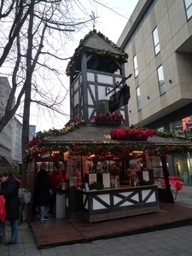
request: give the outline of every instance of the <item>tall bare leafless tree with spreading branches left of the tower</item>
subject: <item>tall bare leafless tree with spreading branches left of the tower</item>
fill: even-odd
[[[82,18],[77,15],[81,10]],[[87,17],[87,18],[84,18]],[[65,114],[58,103],[66,95],[58,95],[44,88],[65,88],[60,76],[64,74],[59,61],[68,59],[65,48],[92,18],[78,0],[2,0],[0,4],[0,71],[1,76],[12,78],[11,90],[0,132],[23,107],[22,154],[28,143],[31,103],[40,104]],[[8,33],[7,33],[8,32]],[[44,87],[44,84],[46,87]],[[22,183],[26,184],[25,166]]]

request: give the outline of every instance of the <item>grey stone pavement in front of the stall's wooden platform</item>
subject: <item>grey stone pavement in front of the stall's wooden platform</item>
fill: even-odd
[[[183,186],[181,195],[185,205],[192,207],[192,186]],[[179,204],[183,204],[179,195],[177,195],[176,201]],[[192,255],[191,229],[192,226],[188,225],[140,235],[122,236],[38,250],[31,230],[25,222],[22,222],[19,224],[18,244],[5,246],[0,243],[0,256],[187,256]],[[6,225],[6,236],[7,239],[10,236],[9,224]]]

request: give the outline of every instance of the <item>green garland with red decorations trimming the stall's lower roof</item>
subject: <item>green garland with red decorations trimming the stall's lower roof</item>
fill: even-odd
[[[84,120],[70,120],[66,127],[62,128],[61,130],[56,129],[49,129],[49,131],[44,131],[38,134],[40,140],[44,140],[49,137],[55,137],[61,134],[66,134],[67,132],[71,132],[74,129],[78,129],[81,125],[85,125]],[[141,126],[131,125],[131,128],[141,128]],[[148,129],[143,127],[143,129]],[[172,134],[172,132],[166,131],[157,131],[154,130],[154,134],[158,137],[174,137],[177,139],[184,139],[183,136],[179,136],[176,134]],[[186,140],[192,141],[192,137],[186,137]],[[45,142],[46,143],[46,142]],[[166,154],[183,154],[192,151],[192,144],[191,145],[169,145],[169,143],[165,145],[156,145],[156,144],[149,144],[149,143],[65,143],[65,144],[51,144],[51,145],[42,145],[37,144],[36,146],[30,148],[26,156],[24,157],[24,161],[32,160],[34,157],[38,157],[39,154],[44,154],[49,151],[61,151],[61,152],[73,152],[74,154],[79,155],[88,155],[90,152],[98,155],[105,155],[108,152],[112,154],[122,154],[127,153],[129,151],[134,150],[154,150],[154,151],[161,151],[165,152]]]

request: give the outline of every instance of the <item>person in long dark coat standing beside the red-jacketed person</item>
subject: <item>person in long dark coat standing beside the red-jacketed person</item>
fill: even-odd
[[[37,175],[37,197],[38,197],[38,218],[48,220],[45,215],[44,207],[49,205],[49,195],[52,195],[50,189],[49,175],[46,169],[46,163],[42,163]]]

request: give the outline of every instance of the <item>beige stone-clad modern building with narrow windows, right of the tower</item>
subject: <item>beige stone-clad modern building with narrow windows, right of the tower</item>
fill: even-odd
[[[129,55],[129,123],[190,136],[192,122],[192,0],[140,0],[118,46]],[[192,160],[173,156],[191,183]]]

